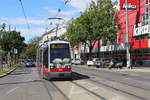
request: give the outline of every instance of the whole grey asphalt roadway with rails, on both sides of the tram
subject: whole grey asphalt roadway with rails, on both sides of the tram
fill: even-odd
[[[73,66],[73,79],[43,80],[24,66],[0,79],[0,100],[149,100],[150,74]]]

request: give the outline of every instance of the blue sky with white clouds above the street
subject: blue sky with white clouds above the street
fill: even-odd
[[[26,41],[33,37],[41,36],[48,30],[55,27],[58,20],[48,20],[48,18],[60,17],[67,22],[71,18],[80,16],[91,0],[71,0],[65,4],[65,0],[21,0],[27,22],[25,20],[21,2],[19,0],[1,0],[0,3],[0,24],[6,23],[6,29],[11,26],[11,30],[16,29],[21,32]],[[58,9],[61,9],[60,13]],[[52,23],[52,24],[50,24]]]

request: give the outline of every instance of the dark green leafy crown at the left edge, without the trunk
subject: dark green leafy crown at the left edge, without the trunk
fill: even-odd
[[[20,32],[2,31],[0,37],[0,46],[5,52],[14,53],[14,49],[17,49],[18,54],[20,54],[26,46],[24,40],[25,39],[20,35]]]

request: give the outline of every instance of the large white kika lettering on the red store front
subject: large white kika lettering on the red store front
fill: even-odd
[[[141,36],[145,34],[150,34],[150,25],[142,26],[142,23],[138,24],[138,27],[134,25],[133,36]]]

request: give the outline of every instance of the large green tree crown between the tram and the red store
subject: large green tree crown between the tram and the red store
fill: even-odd
[[[111,0],[97,0],[71,24],[63,38],[73,46],[84,43],[90,53],[96,40],[112,41],[116,39],[117,21],[114,20],[114,9]]]

